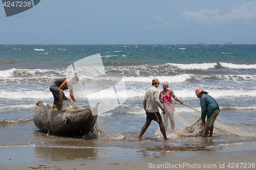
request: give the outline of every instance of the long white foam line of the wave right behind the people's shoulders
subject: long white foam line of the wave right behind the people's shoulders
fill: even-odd
[[[250,96],[250,97],[256,97],[256,90],[234,90],[234,89],[229,89],[229,90],[219,90],[219,89],[214,89],[214,90],[207,90],[209,94],[213,98],[223,98],[223,97],[239,97],[239,96]],[[87,96],[86,94],[93,94],[98,92],[97,90],[92,90],[89,91],[87,90],[86,92],[81,92],[74,90],[75,96],[80,99],[86,99]],[[120,99],[122,98],[127,98],[127,99],[141,99],[143,100],[144,95],[145,95],[146,90],[142,89],[130,89],[130,90],[120,90],[117,91],[118,96]],[[195,98],[195,89],[184,89],[184,90],[174,90],[174,93],[176,96],[179,96],[179,98]],[[84,95],[83,95],[84,94]],[[113,92],[113,88],[106,89],[104,90],[104,93],[102,92],[100,98],[101,99],[116,99],[117,95],[115,92]],[[97,95],[90,95],[91,99],[98,99]],[[0,99],[40,99],[40,100],[46,100],[46,99],[52,99],[52,93],[50,91],[26,91],[26,92],[6,92],[6,91],[0,91]],[[3,106],[1,106],[3,107]],[[24,108],[30,107],[29,106],[23,106]]]

